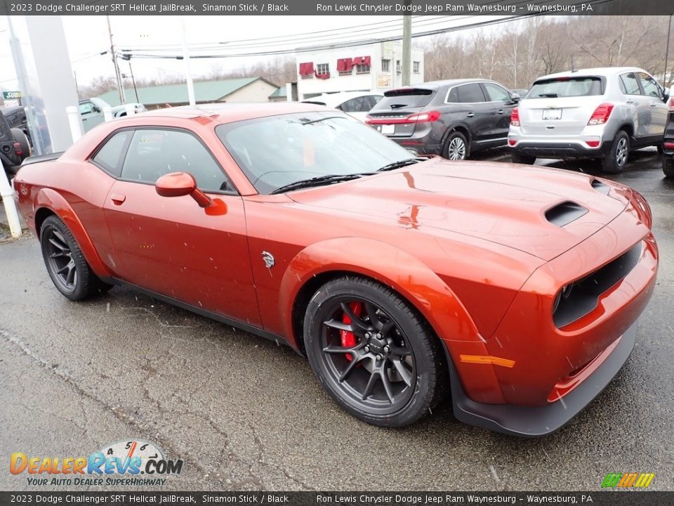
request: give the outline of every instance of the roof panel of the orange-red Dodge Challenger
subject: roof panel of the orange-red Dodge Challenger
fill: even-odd
[[[175,108],[155,109],[141,112],[134,117],[168,117],[181,119],[209,118],[218,123],[245,119],[324,110],[324,106],[301,102],[239,102],[180,105]]]

